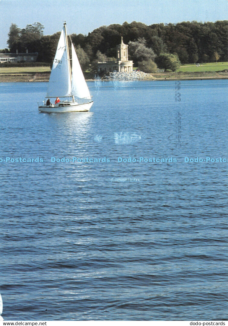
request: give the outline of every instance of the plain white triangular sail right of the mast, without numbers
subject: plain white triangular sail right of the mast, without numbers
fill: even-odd
[[[77,54],[75,52],[73,44],[71,44],[72,50],[72,86],[71,94],[78,98],[91,99],[90,91],[86,84],[84,75],[82,73]]]

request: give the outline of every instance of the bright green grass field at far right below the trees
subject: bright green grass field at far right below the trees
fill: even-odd
[[[181,65],[177,72],[203,72],[203,71],[221,71],[228,69],[228,62],[209,62],[201,63],[199,67],[196,67],[196,64]]]

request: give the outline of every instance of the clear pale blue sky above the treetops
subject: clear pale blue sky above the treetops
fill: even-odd
[[[228,18],[227,0],[0,0],[0,49],[7,47],[11,23],[40,22],[44,35],[60,31],[88,34],[113,23],[215,22]]]

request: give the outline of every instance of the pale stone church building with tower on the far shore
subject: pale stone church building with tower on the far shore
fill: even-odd
[[[98,62],[97,68],[99,73],[133,71],[133,61],[128,60],[128,45],[123,43],[123,37],[121,37],[121,44],[117,45],[117,61]]]

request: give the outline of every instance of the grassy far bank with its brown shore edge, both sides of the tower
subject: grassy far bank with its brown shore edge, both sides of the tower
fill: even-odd
[[[227,79],[228,62],[181,65],[176,72],[153,72],[155,80]],[[93,79],[93,74],[85,73]],[[50,67],[0,67],[0,82],[48,82]]]

